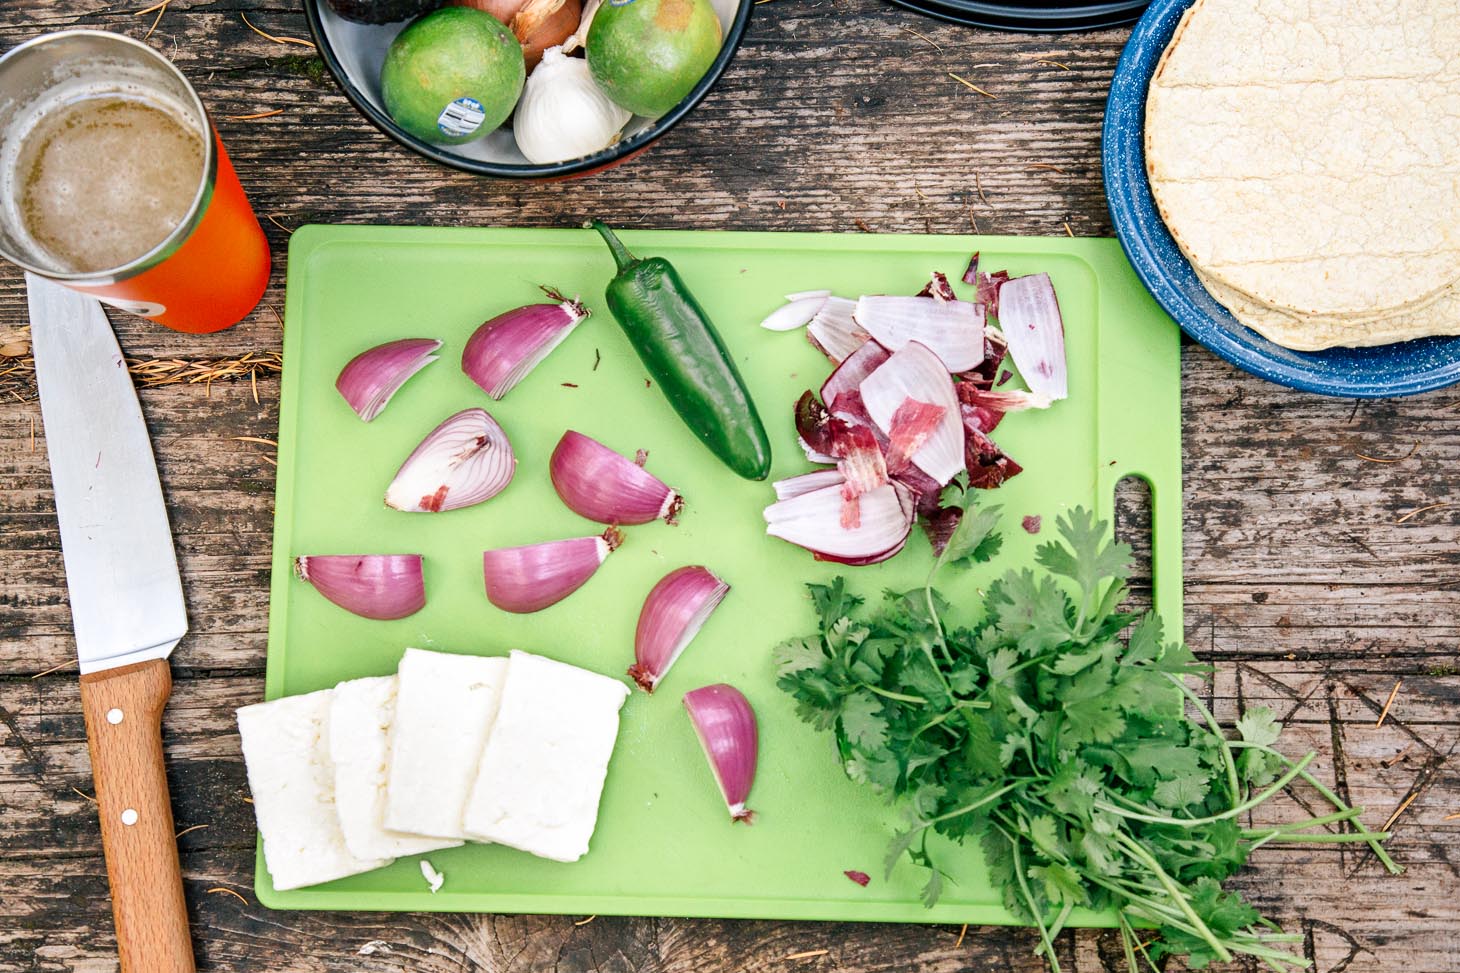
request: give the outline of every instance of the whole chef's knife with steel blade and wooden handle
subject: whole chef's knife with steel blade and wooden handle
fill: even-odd
[[[152,443],[95,298],[26,276],[45,450],[123,973],[193,973],[162,707],[187,633]]]

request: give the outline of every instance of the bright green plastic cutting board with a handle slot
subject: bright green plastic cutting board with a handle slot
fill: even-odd
[[[800,333],[759,320],[783,295],[911,294],[940,269],[958,279],[968,256],[986,269],[1045,270],[1064,313],[1070,397],[1016,413],[997,440],[1025,472],[990,500],[1004,510],[997,562],[1032,562],[1060,511],[1094,505],[1107,517],[1115,482],[1149,481],[1155,520],[1155,595],[1180,630],[1181,450],[1177,329],[1136,281],[1113,240],[876,237],[737,232],[623,234],[638,254],[661,254],[710,308],[759,403],[775,450],[772,478],[806,472],[791,405],[829,373]],[[396,669],[407,646],[504,655],[526,649],[622,676],[645,593],[683,564],[705,564],[730,595],[656,695],[623,707],[591,852],[572,865],[501,846],[470,844],[429,856],[445,875],[431,894],[416,859],[302,891],[274,891],[258,861],[258,900],[276,909],[450,910],[657,915],[894,922],[1009,923],[977,850],[940,855],[953,882],[924,909],[921,869],[898,863],[883,878],[895,808],[847,780],[832,739],[796,719],[775,688],[771,649],[813,630],[803,584],[847,574],[876,596],[923,583],[921,533],[886,564],[819,564],[765,536],[768,482],[746,482],[715,462],[669,409],[603,305],[607,250],[590,231],[304,226],[289,245],[279,492],[269,624],[269,698]],[[594,314],[502,402],[460,370],[467,336],[485,318],[542,299],[537,285],[580,294]],[[962,283],[962,292],[968,292]],[[334,390],[355,354],[397,337],[439,337],[441,361],[412,378],[390,408],[361,422]],[[488,503],[447,513],[399,513],[385,485],[416,443],[445,416],[485,406],[518,457],[511,485]],[[597,533],[558,500],[548,457],[564,430],[632,456],[679,489],[679,526],[626,529],[626,542],[580,592],[536,615],[488,603],[482,551]],[[1035,538],[1021,519],[1038,514]],[[296,580],[299,554],[425,555],[428,603],[400,621],[346,614]],[[968,612],[993,571],[950,573],[945,590]],[[959,599],[959,596],[962,596]],[[755,824],[731,824],[695,733],[683,692],[730,682],[755,706],[761,764],[750,793]],[[842,872],[872,875],[863,888]],[[1102,925],[1102,916],[1076,916]]]

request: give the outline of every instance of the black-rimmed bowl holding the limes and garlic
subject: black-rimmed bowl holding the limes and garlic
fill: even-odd
[[[385,60],[385,50],[391,39],[404,29],[406,22],[355,23],[330,10],[324,0],[304,0],[304,10],[310,18],[310,32],[314,34],[314,42],[320,48],[324,63],[345,91],[345,96],[359,108],[371,124],[412,152],[441,165],[477,175],[512,180],[555,180],[607,169],[634,158],[647,149],[654,139],[673,129],[720,80],[730,58],[740,48],[740,39],[750,22],[750,7],[755,3],[753,0],[740,0],[733,15],[723,9],[727,6],[724,3],[714,3],[714,6],[724,28],[724,42],[710,70],[699,79],[694,91],[685,95],[682,102],[658,118],[650,120],[635,115],[625,129],[626,134],[602,152],[566,162],[534,165],[517,150],[507,127],[466,145],[432,145],[397,126],[385,112],[385,104],[381,99],[380,67]]]

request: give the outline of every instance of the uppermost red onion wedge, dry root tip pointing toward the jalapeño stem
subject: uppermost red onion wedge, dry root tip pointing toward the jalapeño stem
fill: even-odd
[[[501,399],[558,348],[590,311],[550,288],[543,294],[556,304],[529,304],[483,323],[466,342],[461,371]]]

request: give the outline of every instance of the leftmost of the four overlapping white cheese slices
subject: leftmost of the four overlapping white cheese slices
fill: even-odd
[[[345,844],[334,812],[331,697],[333,690],[321,690],[238,710],[264,863],[279,891],[390,865],[390,858],[358,858]]]

